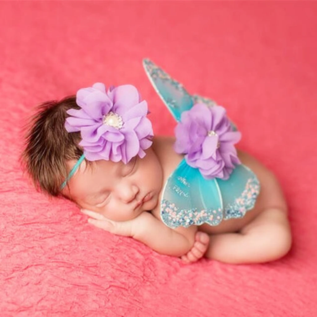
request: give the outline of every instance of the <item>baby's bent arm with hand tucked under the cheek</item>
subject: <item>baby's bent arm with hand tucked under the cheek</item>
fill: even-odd
[[[94,218],[88,221],[96,227],[117,235],[131,236],[161,254],[183,256],[192,249],[195,242],[197,226],[173,230],[146,211],[123,222],[109,220],[90,210],[82,212]]]

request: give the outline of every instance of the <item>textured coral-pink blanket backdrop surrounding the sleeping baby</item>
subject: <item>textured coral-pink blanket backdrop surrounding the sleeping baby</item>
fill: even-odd
[[[306,2],[0,3],[0,315],[316,316],[316,23]],[[132,83],[156,133],[174,121],[149,57],[228,109],[275,171],[294,246],[262,265],[185,266],[37,193],[17,161],[32,108],[96,81]]]

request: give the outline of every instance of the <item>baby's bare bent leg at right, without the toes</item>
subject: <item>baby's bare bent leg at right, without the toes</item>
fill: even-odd
[[[271,207],[239,233],[211,235],[205,256],[234,264],[269,262],[287,254],[290,246],[287,212],[281,207]]]

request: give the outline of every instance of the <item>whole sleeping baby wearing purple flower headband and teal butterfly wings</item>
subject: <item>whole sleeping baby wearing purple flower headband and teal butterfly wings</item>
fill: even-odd
[[[143,64],[178,122],[175,137],[154,137],[136,87],[81,88],[32,120],[23,159],[36,187],[73,201],[96,227],[185,263],[284,256],[291,232],[273,173],[236,149],[241,134],[223,107]]]

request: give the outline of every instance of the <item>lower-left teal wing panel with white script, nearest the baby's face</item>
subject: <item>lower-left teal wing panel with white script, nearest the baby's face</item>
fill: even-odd
[[[223,202],[216,179],[204,179],[183,159],[165,183],[161,200],[162,221],[171,228],[223,220]]]

